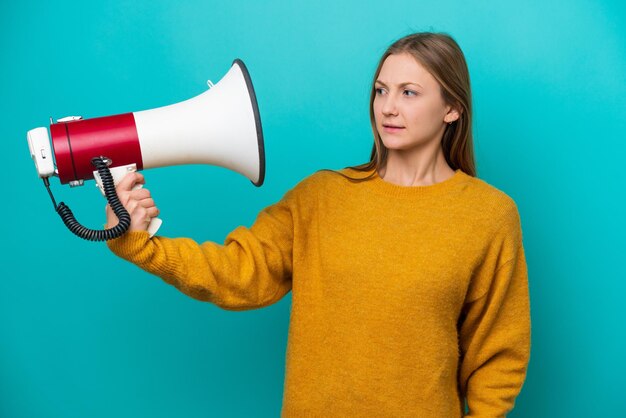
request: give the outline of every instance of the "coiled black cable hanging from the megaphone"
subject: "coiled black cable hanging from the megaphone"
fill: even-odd
[[[65,203],[61,202],[56,205],[54,198],[52,198],[52,203],[55,205],[55,209],[57,213],[61,216],[61,219],[63,220],[65,226],[67,226],[67,228],[72,231],[74,235],[89,241],[109,241],[121,237],[130,227],[130,215],[124,205],[122,205],[122,203],[120,202],[120,199],[117,197],[117,192],[115,191],[115,183],[113,181],[113,176],[109,171],[107,161],[108,159],[105,157],[95,157],[91,159],[91,164],[93,164],[98,170],[100,178],[102,179],[104,195],[106,196],[109,205],[111,205],[113,213],[115,213],[115,215],[119,219],[119,223],[113,228],[101,230],[86,228],[76,220],[74,214]],[[47,179],[44,179],[44,183],[46,183],[48,192],[52,197],[49,183],[46,180]]]

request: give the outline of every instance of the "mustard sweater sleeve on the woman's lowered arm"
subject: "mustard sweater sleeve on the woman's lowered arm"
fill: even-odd
[[[460,319],[459,380],[467,418],[505,417],[526,378],[530,359],[528,273],[517,209],[480,270]]]

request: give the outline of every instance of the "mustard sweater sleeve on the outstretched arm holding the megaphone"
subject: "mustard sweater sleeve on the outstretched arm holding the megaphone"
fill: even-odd
[[[263,209],[250,228],[224,244],[189,238],[149,238],[129,232],[109,241],[113,253],[161,277],[192,298],[227,310],[270,305],[291,290],[296,191]]]

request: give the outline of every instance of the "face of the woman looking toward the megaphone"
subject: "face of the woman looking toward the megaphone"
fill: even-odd
[[[443,101],[437,80],[408,53],[388,56],[374,87],[376,128],[389,150],[439,142],[459,116]]]

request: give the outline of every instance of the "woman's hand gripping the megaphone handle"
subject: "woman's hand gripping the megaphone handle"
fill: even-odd
[[[120,202],[130,214],[129,231],[147,231],[152,218],[159,216],[159,209],[154,204],[150,191],[144,188],[137,188],[137,185],[145,184],[143,174],[130,172],[118,183],[115,190]],[[112,228],[118,224],[119,220],[110,205],[106,205],[106,228]]]

